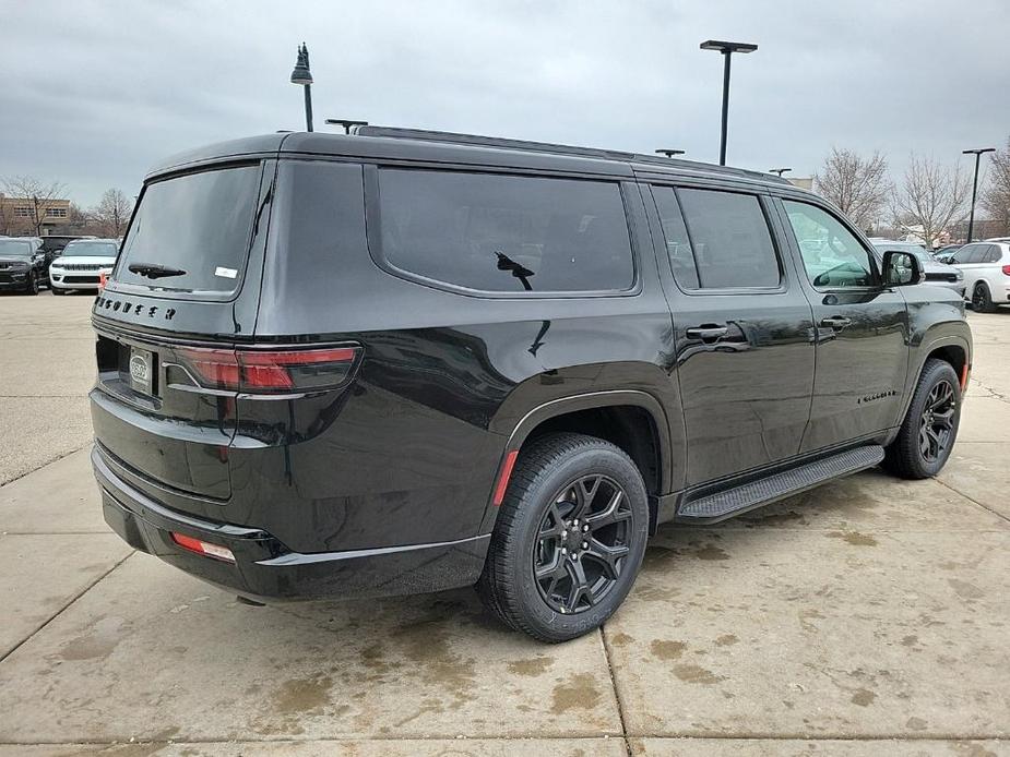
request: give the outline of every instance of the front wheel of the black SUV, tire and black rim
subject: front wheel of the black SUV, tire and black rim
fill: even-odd
[[[949,405],[943,404],[944,397],[949,397]],[[960,422],[958,373],[950,363],[930,358],[923,367],[901,430],[884,450],[884,470],[903,479],[936,476],[950,457]]]

